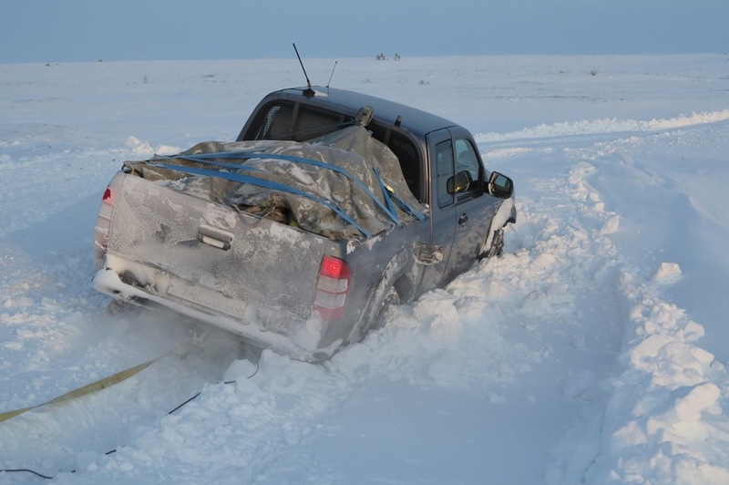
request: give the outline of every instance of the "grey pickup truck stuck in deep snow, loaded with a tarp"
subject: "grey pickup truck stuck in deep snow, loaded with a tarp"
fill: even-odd
[[[388,304],[500,253],[512,193],[447,119],[341,89],[283,89],[234,142],[124,163],[98,213],[93,284],[324,359]]]

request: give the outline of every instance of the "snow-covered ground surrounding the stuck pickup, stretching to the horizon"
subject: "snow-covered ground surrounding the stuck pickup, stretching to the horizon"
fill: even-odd
[[[306,61],[314,83],[333,67]],[[339,59],[333,86],[464,124],[516,181],[505,254],[323,365],[253,366],[222,332],[108,314],[92,232],[121,162],[234,139],[259,98],[302,84],[295,59],[0,65],[0,413],[159,357],[0,422],[0,469],[729,482],[729,57]]]

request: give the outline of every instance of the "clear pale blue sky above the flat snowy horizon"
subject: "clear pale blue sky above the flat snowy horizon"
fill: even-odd
[[[2,0],[0,63],[729,53],[729,0]]]

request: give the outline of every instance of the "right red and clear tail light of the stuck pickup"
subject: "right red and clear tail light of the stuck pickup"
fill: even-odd
[[[316,279],[313,309],[324,320],[342,318],[346,312],[351,273],[349,264],[333,256],[324,256]]]

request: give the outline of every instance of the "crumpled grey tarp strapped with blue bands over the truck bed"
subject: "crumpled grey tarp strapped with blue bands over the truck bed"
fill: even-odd
[[[255,153],[255,158],[246,158],[246,152]],[[220,157],[206,156],[212,153],[220,154]],[[266,154],[334,165],[361,181],[367,190],[340,171],[301,161],[264,158]],[[196,160],[196,156],[200,155],[204,160]],[[236,167],[241,164],[248,170],[237,170]],[[376,170],[381,181],[395,197],[405,201],[416,212],[426,212],[426,207],[416,201],[408,189],[399,160],[392,150],[373,139],[360,125],[340,129],[306,142],[202,142],[178,155],[127,162],[126,165],[128,170],[145,179],[159,181],[176,190],[216,203],[235,206],[242,211],[297,225],[305,231],[332,239],[359,237],[362,234],[355,225],[337,215],[330,207],[311,198],[251,183],[230,181],[220,176],[190,175],[184,170],[186,167],[194,167],[196,170],[206,170],[205,173],[209,173],[207,170],[214,170],[219,175],[240,173],[246,177],[282,183],[293,191],[303,191],[314,198],[334,202],[352,221],[371,234],[392,227],[395,220],[408,222],[414,218],[395,201],[395,220],[388,214],[387,208],[390,206],[383,194],[382,185],[377,180]],[[177,169],[162,168],[162,165]],[[213,172],[210,174],[214,175]]]

